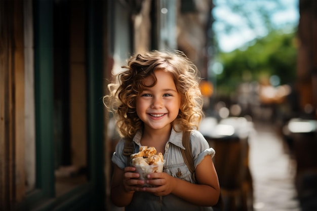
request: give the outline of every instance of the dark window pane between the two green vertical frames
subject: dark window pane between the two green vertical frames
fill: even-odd
[[[85,7],[74,5],[59,1],[54,8],[56,196],[87,182]]]

